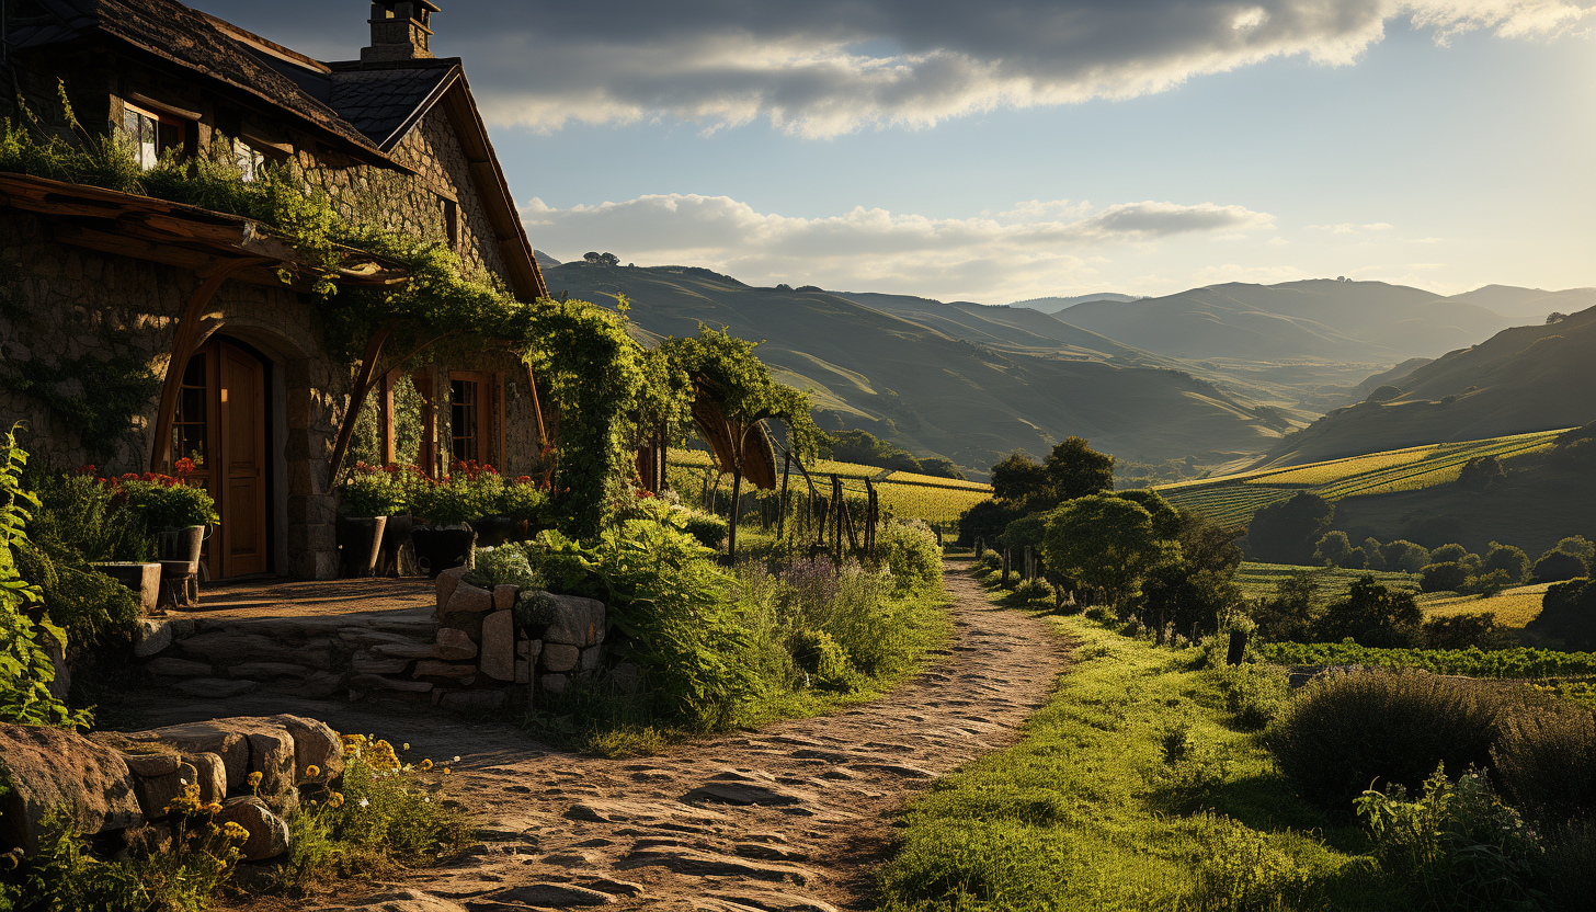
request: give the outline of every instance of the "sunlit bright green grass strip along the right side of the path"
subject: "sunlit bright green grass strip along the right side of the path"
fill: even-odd
[[[1058,692],[908,808],[881,909],[1381,907],[1361,831],[1291,794],[1197,650],[1049,623]]]

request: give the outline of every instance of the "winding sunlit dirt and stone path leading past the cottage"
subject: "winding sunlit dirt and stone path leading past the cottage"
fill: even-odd
[[[504,728],[324,712],[345,730],[412,732],[412,755],[460,754],[450,791],[488,816],[456,864],[383,885],[386,896],[298,907],[868,909],[892,815],[930,779],[1013,743],[1063,668],[1044,623],[994,609],[966,567],[950,562],[956,636],[927,672],[757,735],[606,760]]]

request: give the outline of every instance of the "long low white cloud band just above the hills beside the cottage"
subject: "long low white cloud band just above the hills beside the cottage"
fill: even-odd
[[[1181,236],[1272,228],[1245,206],[1168,201],[1017,204],[999,216],[932,219],[855,208],[827,217],[760,212],[728,196],[666,193],[591,206],[522,208],[528,236],[560,259],[613,251],[622,262],[685,264],[755,284],[822,284],[975,300],[1103,287],[1117,256]]]

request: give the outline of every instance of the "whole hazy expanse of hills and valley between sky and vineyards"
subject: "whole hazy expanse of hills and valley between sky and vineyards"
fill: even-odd
[[[1545,326],[1596,305],[1596,289],[1441,297],[1315,280],[993,307],[543,262],[555,294],[629,297],[643,331],[686,335],[702,321],[763,340],[780,379],[812,390],[824,426],[868,430],[972,478],[1068,434],[1122,460],[1234,470],[1596,418],[1596,311]],[[1360,404],[1384,387],[1401,393]]]

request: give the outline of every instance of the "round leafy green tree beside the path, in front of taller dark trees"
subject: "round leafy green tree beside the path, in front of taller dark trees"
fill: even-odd
[[[1042,538],[1047,567],[1108,593],[1116,607],[1179,548],[1154,532],[1152,514],[1112,495],[1079,497],[1052,511]]]

